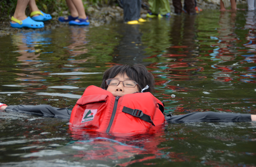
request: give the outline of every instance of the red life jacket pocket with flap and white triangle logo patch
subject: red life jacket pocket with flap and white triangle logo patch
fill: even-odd
[[[101,125],[100,120],[105,114],[108,97],[105,94],[95,94],[80,98],[76,102],[77,109],[72,127],[77,129],[98,129]]]

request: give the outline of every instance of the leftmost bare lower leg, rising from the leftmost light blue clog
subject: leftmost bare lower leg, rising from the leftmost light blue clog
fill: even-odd
[[[26,15],[25,15],[25,10],[26,10],[26,6],[29,3],[30,0],[18,0],[17,1],[17,6],[14,12],[13,17],[17,18],[18,20],[24,20],[26,19]],[[16,23],[11,21],[11,23]]]

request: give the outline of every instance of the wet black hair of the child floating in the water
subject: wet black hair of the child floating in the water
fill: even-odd
[[[136,65],[114,65],[110,69],[107,69],[103,74],[102,80],[102,89],[107,89],[108,85],[106,84],[106,80],[110,78],[114,78],[118,74],[124,75],[126,74],[131,80],[134,80],[139,84],[139,92],[146,87],[149,86],[143,92],[154,92],[154,76],[147,71],[146,67],[141,64]]]

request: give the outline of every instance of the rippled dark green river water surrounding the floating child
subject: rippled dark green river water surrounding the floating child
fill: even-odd
[[[244,7],[245,8],[245,7]],[[141,25],[64,26],[0,37],[0,102],[69,107],[115,64],[154,75],[165,113],[256,114],[256,13],[203,11]],[[0,112],[0,166],[256,166],[256,123],[181,123],[114,137],[68,120]]]

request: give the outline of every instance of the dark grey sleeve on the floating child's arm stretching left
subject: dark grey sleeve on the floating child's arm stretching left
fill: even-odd
[[[6,110],[31,113],[39,116],[70,118],[71,110],[50,105],[9,105]]]

